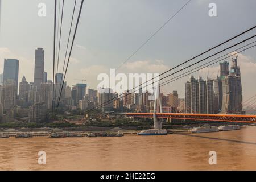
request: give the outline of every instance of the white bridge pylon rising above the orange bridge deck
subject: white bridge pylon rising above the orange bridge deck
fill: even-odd
[[[157,103],[159,103],[160,107],[160,113],[163,113],[162,108],[162,99],[161,99],[161,92],[160,92],[160,84],[158,82],[158,87],[155,88],[155,101],[154,101],[154,110],[153,110],[153,118],[154,118],[154,128],[155,129],[162,129],[163,119],[162,118],[156,118],[156,106]]]

